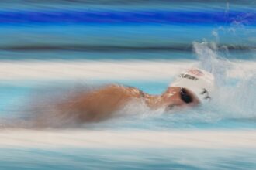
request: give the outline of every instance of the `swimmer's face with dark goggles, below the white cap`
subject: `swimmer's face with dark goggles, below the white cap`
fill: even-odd
[[[168,90],[161,95],[162,104],[166,110],[172,107],[195,106],[199,104],[199,100],[188,89],[182,87],[168,87]]]

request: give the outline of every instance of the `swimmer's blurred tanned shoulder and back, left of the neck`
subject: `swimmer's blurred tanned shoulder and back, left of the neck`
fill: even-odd
[[[60,114],[70,114],[81,122],[102,121],[114,116],[130,100],[140,97],[140,92],[118,85],[109,85],[90,93],[81,93],[58,105]]]

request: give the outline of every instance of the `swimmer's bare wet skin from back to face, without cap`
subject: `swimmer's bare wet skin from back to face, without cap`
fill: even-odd
[[[144,102],[153,110],[164,107],[195,106],[199,100],[189,91],[192,102],[187,104],[181,99],[181,87],[168,87],[161,95],[150,95],[134,87],[109,85],[89,93],[79,93],[68,100],[56,104],[58,114],[75,117],[79,122],[103,121],[113,116],[116,110],[123,108],[130,101]]]

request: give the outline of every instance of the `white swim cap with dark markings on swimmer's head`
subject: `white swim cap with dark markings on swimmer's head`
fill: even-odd
[[[192,68],[180,74],[170,87],[184,87],[192,91],[201,103],[209,101],[215,87],[214,76],[205,70]]]

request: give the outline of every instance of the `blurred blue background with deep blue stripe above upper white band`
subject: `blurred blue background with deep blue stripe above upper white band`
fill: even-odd
[[[254,59],[254,1],[1,1],[0,59]],[[127,53],[128,52],[128,53]]]

